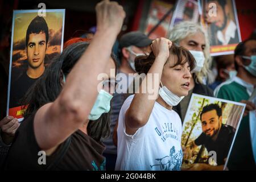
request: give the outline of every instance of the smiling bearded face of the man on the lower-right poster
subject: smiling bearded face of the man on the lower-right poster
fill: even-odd
[[[201,125],[203,132],[209,137],[214,137],[221,127],[222,117],[218,117],[217,111],[210,110],[201,116]]]

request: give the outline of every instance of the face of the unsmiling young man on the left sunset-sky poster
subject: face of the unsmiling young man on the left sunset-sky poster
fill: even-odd
[[[44,66],[44,57],[46,56],[46,33],[30,34],[27,44],[28,66],[36,69]]]

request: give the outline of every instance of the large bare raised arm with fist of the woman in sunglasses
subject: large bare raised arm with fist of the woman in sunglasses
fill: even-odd
[[[41,107],[34,119],[39,147],[49,150],[64,142],[88,119],[97,97],[97,76],[105,71],[125,11],[117,2],[96,6],[97,32],[67,77],[57,99]]]

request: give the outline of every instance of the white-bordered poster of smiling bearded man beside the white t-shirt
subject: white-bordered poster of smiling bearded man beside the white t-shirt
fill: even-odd
[[[245,104],[192,94],[183,122],[183,169],[223,170]]]

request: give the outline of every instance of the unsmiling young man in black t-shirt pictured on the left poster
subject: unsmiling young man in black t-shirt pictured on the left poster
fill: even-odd
[[[27,68],[19,77],[13,74],[10,92],[10,107],[20,105],[20,100],[34,82],[44,73],[49,30],[46,20],[36,16],[26,31]]]

